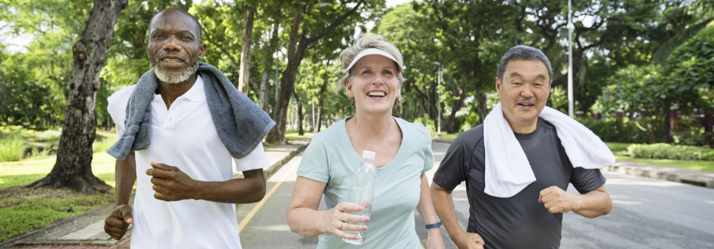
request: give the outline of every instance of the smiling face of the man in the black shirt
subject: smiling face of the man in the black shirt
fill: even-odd
[[[496,90],[501,97],[503,117],[513,131],[532,132],[550,93],[548,68],[540,60],[511,60],[503,73],[503,82],[496,78]]]

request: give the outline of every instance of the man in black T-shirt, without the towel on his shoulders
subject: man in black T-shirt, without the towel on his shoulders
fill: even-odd
[[[483,124],[459,134],[441,161],[431,194],[458,248],[559,248],[563,213],[594,218],[612,209],[605,177],[598,169],[574,168],[553,124],[538,117],[552,75],[545,54],[529,46],[511,48],[498,65],[496,90],[503,117],[531,164],[533,183],[508,198],[484,192],[484,176],[491,173],[486,171]],[[466,231],[456,220],[451,199],[462,181],[471,206]],[[580,194],[565,192],[568,183]]]

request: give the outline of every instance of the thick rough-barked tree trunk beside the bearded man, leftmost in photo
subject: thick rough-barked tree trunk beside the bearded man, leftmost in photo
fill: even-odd
[[[86,194],[111,189],[91,172],[92,142],[96,132],[95,102],[99,72],[114,36],[114,24],[126,4],[126,0],[94,1],[82,38],[72,47],[74,65],[57,161],[50,174],[27,187],[69,187]]]

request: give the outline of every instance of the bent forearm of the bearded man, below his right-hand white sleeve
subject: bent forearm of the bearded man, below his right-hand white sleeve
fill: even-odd
[[[196,181],[191,198],[222,203],[254,203],[266,194],[263,169],[243,171],[245,178],[228,181]]]

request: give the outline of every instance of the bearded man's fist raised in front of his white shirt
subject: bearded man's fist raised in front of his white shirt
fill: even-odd
[[[193,198],[198,181],[191,179],[186,173],[175,166],[151,162],[154,169],[146,169],[154,184],[154,198],[161,201],[181,201]]]

